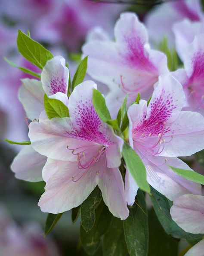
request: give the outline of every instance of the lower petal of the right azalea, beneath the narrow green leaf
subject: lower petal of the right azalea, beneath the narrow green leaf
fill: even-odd
[[[168,199],[174,200],[187,193],[201,194],[201,185],[178,176],[168,166],[176,166],[185,170],[192,170],[187,164],[176,157],[154,157],[143,160],[148,183]],[[193,170],[192,170],[193,171]],[[173,189],[172,189],[173,188]]]

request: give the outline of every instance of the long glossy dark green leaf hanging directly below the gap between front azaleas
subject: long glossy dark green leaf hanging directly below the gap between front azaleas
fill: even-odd
[[[148,219],[145,197],[138,190],[136,202],[129,207],[130,214],[124,220],[124,235],[130,256],[147,256]]]

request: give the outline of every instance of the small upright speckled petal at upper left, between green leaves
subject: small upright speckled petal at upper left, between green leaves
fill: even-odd
[[[57,56],[47,61],[43,67],[41,81],[47,96],[57,92],[67,94],[69,70],[65,67],[65,59]]]

